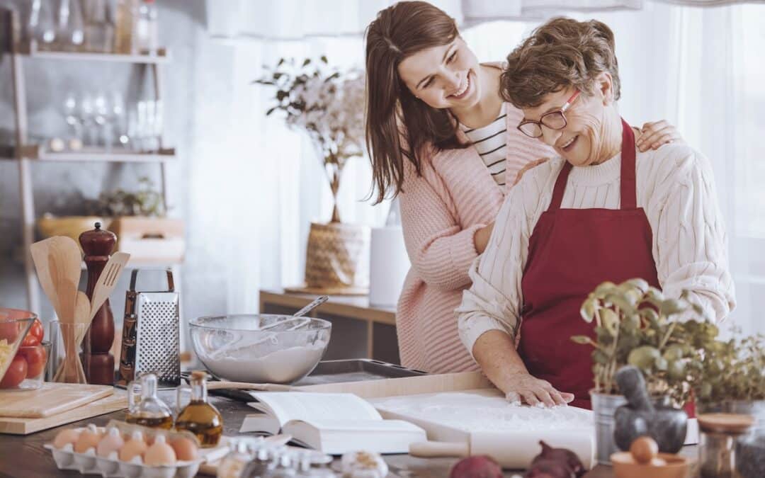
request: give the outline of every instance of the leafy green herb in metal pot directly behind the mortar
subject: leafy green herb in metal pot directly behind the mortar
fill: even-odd
[[[685,292],[679,300],[665,298],[643,279],[630,279],[620,285],[604,282],[582,304],[581,316],[594,323],[594,337],[571,340],[594,347],[591,399],[600,463],[610,463],[617,450],[614,411],[626,403],[615,379],[620,367],[640,369],[653,398],[674,405],[688,402],[692,370],[701,360],[699,350],[717,337],[718,329],[706,320],[673,320],[678,314],[703,315],[702,308],[686,298]]]

